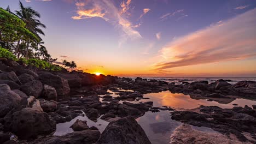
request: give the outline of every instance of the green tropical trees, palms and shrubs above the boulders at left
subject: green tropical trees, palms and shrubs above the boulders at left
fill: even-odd
[[[44,46],[41,36],[45,35],[42,28],[46,26],[39,19],[38,11],[21,2],[15,12],[9,7],[0,8],[0,57],[42,69],[61,70],[53,64],[57,58],[52,58]],[[71,62],[68,67],[74,69],[76,64]]]

